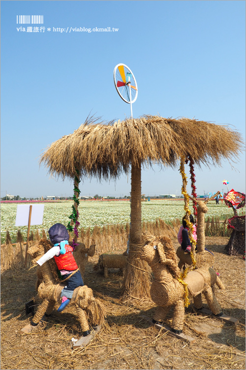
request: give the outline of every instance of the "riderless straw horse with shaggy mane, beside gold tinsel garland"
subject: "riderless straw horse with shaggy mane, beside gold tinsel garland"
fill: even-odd
[[[162,323],[174,306],[172,331],[182,333],[184,325],[184,300],[185,289],[180,282],[180,269],[178,268],[175,250],[171,239],[165,236],[143,237],[141,259],[147,261],[154,273],[154,282],[151,285],[151,297],[157,308],[154,313],[153,323]],[[221,308],[216,300],[212,287],[217,284],[220,289],[223,285],[218,281],[213,268],[199,268],[188,272],[184,279],[187,284],[188,296],[193,297],[194,306],[202,308],[202,293],[205,295],[211,311],[221,316]]]

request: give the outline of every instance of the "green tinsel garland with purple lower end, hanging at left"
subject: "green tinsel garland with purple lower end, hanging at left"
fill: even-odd
[[[78,175],[78,170],[76,170],[76,173]],[[79,237],[79,233],[78,233],[78,226],[80,225],[80,222],[78,222],[78,218],[79,218],[79,212],[78,212],[78,205],[79,205],[79,194],[80,194],[80,189],[79,189],[79,183],[80,183],[80,180],[78,178],[78,176],[75,176],[74,177],[74,195],[73,195],[73,201],[74,201],[74,204],[72,205],[72,213],[71,215],[69,216],[69,219],[71,219],[71,221],[68,222],[67,224],[67,229],[68,231],[70,232],[74,232],[74,238],[72,240],[72,244],[71,244],[71,247],[73,248],[73,250],[75,250],[75,248],[77,247],[78,243],[77,243],[77,238]],[[74,225],[74,227],[73,227]]]

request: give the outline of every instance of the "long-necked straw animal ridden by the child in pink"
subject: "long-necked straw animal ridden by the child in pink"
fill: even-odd
[[[197,201],[197,251],[195,252],[196,267],[212,267],[215,262],[215,257],[212,253],[205,251],[205,230],[204,230],[204,215],[208,212],[207,203],[209,200],[214,199],[219,194],[219,191],[211,198],[201,201]],[[191,198],[191,197],[190,197]],[[191,198],[193,199],[193,198]],[[181,246],[177,249],[177,256],[180,261],[178,264],[179,268],[185,268],[185,263],[188,265],[192,264],[192,259],[189,253],[184,253]]]

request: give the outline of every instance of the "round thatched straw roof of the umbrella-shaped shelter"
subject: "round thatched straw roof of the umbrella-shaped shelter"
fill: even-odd
[[[235,162],[242,151],[241,134],[228,126],[195,119],[142,116],[109,122],[88,118],[73,134],[52,143],[42,154],[52,175],[74,178],[95,175],[117,178],[129,166],[159,163],[175,167],[181,155],[190,154],[198,165]]]

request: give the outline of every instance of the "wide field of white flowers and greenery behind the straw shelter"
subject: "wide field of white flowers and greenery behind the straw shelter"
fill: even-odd
[[[32,225],[31,231],[36,229],[48,230],[54,223],[61,222],[67,225],[69,222],[68,216],[71,214],[72,201],[61,201],[57,203],[44,203],[44,215],[42,225]],[[233,216],[232,208],[228,208],[223,203],[215,205],[214,201],[208,203],[209,212],[205,215],[205,221],[219,217],[220,220],[225,220],[226,217]],[[6,230],[9,231],[11,239],[15,240],[18,228],[23,235],[27,234],[27,226],[15,226],[16,219],[16,203],[1,204],[1,243],[4,242]],[[192,204],[190,204],[192,212]],[[79,204],[79,222],[80,227],[103,226],[107,224],[126,224],[130,222],[130,202],[129,201],[80,201]],[[245,207],[243,208],[245,214]],[[242,209],[239,210],[242,214]],[[151,200],[150,202],[142,202],[142,220],[155,221],[160,218],[166,223],[172,222],[177,218],[182,220],[184,216],[184,201],[182,200]],[[80,229],[79,227],[79,229]]]

